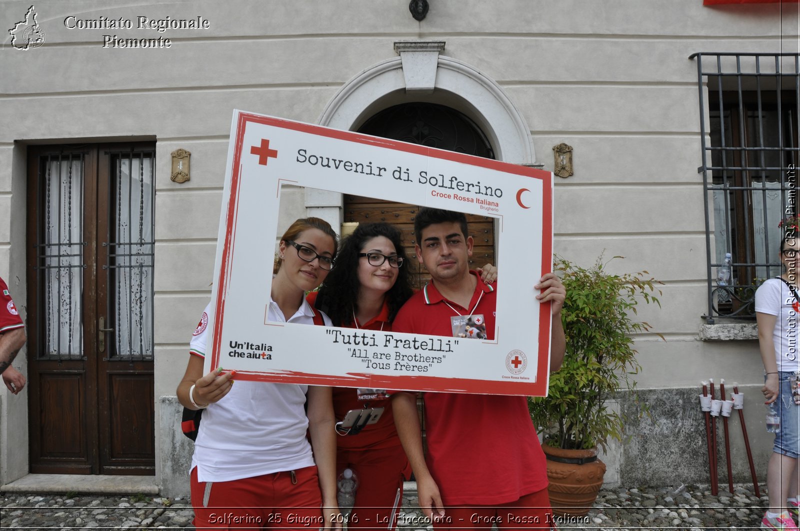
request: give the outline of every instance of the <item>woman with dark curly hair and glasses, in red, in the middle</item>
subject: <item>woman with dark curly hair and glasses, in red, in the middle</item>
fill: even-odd
[[[478,269],[494,281],[497,269]],[[336,265],[308,301],[330,316],[334,326],[390,332],[400,307],[414,293],[402,245],[402,233],[389,223],[359,225],[342,241]],[[382,389],[334,388],[334,413],[342,420],[350,409],[383,407],[378,422],[358,433],[340,429],[337,474],[350,468],[358,490],[348,529],[394,529],[402,501],[402,481],[410,475],[390,401]],[[347,434],[343,434],[347,433]]]

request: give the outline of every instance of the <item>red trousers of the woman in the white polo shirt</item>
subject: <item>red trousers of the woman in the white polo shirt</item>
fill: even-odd
[[[324,527],[317,467],[234,481],[198,481],[191,473],[197,529],[318,529]]]

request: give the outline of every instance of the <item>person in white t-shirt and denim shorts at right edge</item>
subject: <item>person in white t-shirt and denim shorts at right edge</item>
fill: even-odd
[[[795,230],[781,242],[781,277],[765,281],[755,293],[758,346],[766,373],[762,393],[766,403],[778,401],[781,430],[775,433],[773,453],[766,469],[770,508],[762,519],[762,529],[798,529],[798,457],[800,457],[800,397],[798,374],[798,249]],[[794,394],[794,396],[793,396]]]

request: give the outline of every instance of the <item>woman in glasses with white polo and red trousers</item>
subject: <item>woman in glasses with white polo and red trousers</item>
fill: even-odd
[[[298,219],[279,246],[270,321],[320,322],[306,302],[333,265],[336,234],[319,218]],[[339,527],[336,441],[330,387],[239,381],[235,371],[203,375],[206,307],[190,344],[178,400],[203,413],[191,465],[197,529]],[[319,312],[324,324],[330,319]],[[306,437],[306,431],[310,435]]]

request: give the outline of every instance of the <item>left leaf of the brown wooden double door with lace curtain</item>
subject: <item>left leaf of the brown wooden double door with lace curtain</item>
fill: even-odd
[[[92,473],[95,373],[86,363],[82,313],[94,299],[84,229],[94,215],[85,175],[96,158],[85,146],[37,146],[28,154],[30,470]]]

